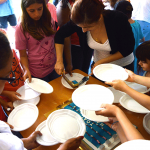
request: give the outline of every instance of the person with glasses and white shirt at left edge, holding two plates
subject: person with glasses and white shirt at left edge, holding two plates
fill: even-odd
[[[0,32],[0,94],[3,91],[6,81],[14,81],[14,78],[10,78],[10,73],[12,72],[12,61],[13,54],[10,48],[7,37]],[[2,150],[24,150],[33,149],[39,146],[36,142],[36,136],[41,136],[40,131],[33,132],[28,138],[19,139],[14,136],[10,130],[13,126],[0,121],[0,149]],[[82,136],[69,139],[64,144],[60,145],[58,150],[76,150],[81,140]]]

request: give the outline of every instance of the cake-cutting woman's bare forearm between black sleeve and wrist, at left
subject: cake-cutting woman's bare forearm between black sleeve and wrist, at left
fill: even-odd
[[[64,45],[63,44],[55,44],[56,48],[56,57],[57,57],[57,62],[63,63],[63,49]]]

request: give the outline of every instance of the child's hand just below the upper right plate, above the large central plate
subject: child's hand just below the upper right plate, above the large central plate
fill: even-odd
[[[120,90],[122,92],[124,92],[125,89],[127,88],[126,83],[122,80],[114,80],[113,82],[105,82],[105,83],[111,85],[114,89]]]

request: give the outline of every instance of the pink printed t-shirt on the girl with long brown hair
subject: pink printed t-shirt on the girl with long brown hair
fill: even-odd
[[[52,21],[55,30],[54,21]],[[54,35],[45,37],[38,41],[29,33],[26,37],[21,29],[21,24],[16,27],[16,49],[26,50],[28,55],[29,70],[31,75],[43,78],[54,70],[56,63],[56,51],[54,46]]]

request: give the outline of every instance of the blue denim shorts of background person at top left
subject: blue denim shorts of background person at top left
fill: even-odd
[[[9,15],[9,16],[0,17],[0,28],[6,29],[8,27],[7,22],[9,22],[9,24],[11,26],[16,26],[17,25],[17,20],[16,20],[15,14]]]

